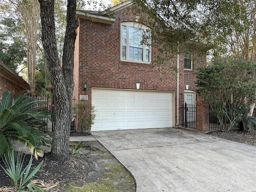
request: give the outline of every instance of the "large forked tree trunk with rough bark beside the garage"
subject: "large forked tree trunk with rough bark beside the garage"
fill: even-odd
[[[76,0],[68,0],[67,27],[64,40],[63,63],[56,45],[54,25],[54,0],[39,0],[42,22],[42,44],[46,54],[50,79],[55,97],[55,122],[51,154],[58,160],[68,159],[71,126],[72,93],[74,88],[74,44],[76,40]]]

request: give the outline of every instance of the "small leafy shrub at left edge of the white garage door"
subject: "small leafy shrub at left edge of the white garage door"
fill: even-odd
[[[72,108],[76,118],[78,119],[79,127],[82,132],[90,131],[96,117],[94,106],[88,102],[78,101]]]

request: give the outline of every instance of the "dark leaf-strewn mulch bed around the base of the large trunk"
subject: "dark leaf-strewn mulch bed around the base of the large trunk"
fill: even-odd
[[[90,144],[91,145],[87,146],[88,153],[100,150],[96,148],[96,146],[100,146],[98,142],[90,142]],[[26,154],[24,167],[28,164],[30,156],[30,154]],[[45,153],[43,157],[38,157],[38,160],[34,159],[32,162],[32,170],[34,170],[42,160],[44,160],[44,164],[33,179],[40,179],[44,182],[50,181],[52,183],[59,182],[60,188],[58,191],[65,191],[63,186],[66,183],[86,180],[88,173],[98,171],[94,159],[88,158],[86,155],[77,158],[75,155],[69,154],[69,160],[67,162],[60,162],[56,161],[50,153]],[[2,159],[0,160],[0,164],[4,166]],[[2,186],[13,186],[13,184],[4,170],[0,168],[0,188]]]

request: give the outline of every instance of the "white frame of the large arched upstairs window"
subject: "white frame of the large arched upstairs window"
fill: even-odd
[[[149,64],[151,62],[151,46],[149,47],[149,61],[146,61],[146,45],[143,46],[143,52],[142,52],[142,61],[136,61],[136,60],[129,60],[129,27],[133,28],[139,28],[143,30],[148,30],[144,25],[138,24],[136,22],[121,22],[120,24],[120,59],[121,61],[127,61],[127,62],[136,62],[136,63],[146,63]],[[126,59],[122,58],[122,26],[126,26]]]

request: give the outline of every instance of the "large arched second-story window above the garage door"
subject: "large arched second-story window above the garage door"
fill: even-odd
[[[132,22],[123,22],[122,29],[122,60],[146,62],[151,60],[150,48],[142,44],[144,29],[134,26]]]

